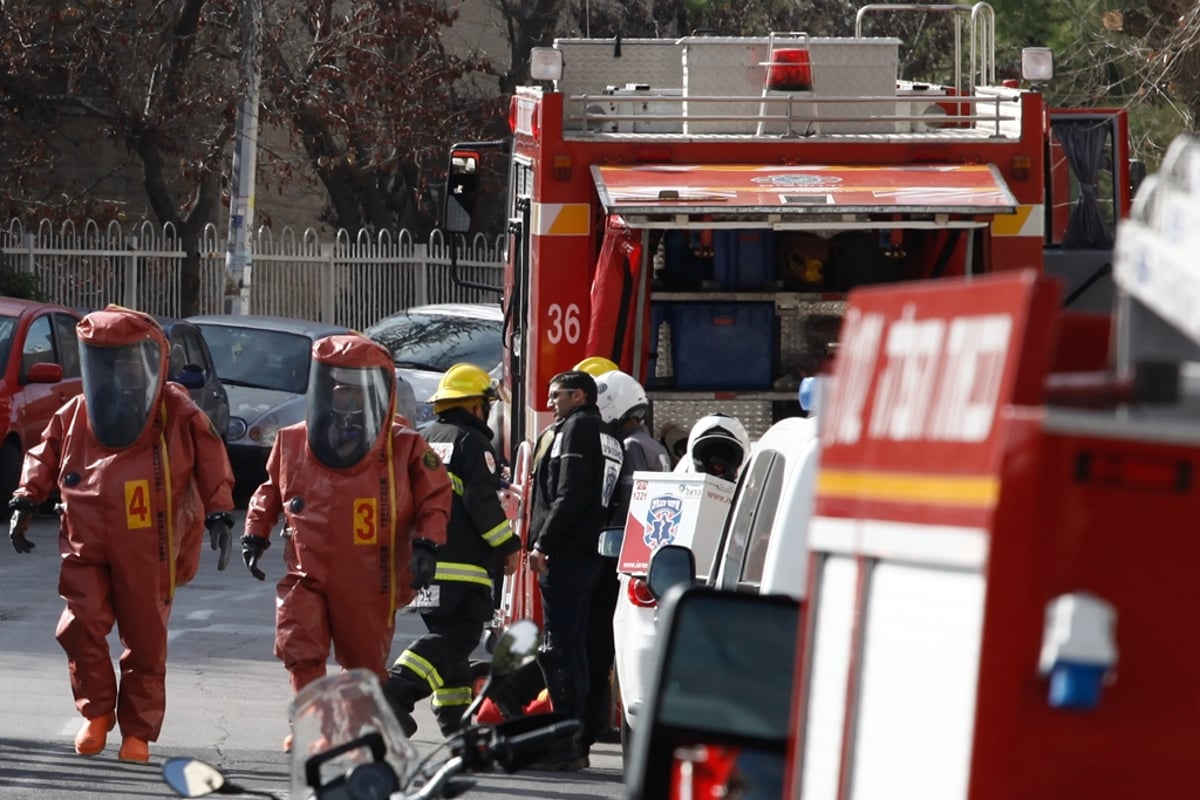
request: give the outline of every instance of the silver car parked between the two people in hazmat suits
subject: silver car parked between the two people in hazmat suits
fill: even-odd
[[[266,477],[266,457],[280,428],[304,421],[312,343],[342,325],[260,314],[191,317],[204,333],[217,375],[229,393],[226,447],[239,493]],[[413,387],[397,373],[396,405],[415,413]]]

